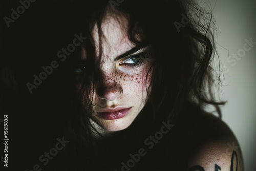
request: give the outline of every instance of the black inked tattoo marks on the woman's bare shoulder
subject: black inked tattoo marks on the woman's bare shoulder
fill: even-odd
[[[221,167],[218,164],[215,164],[214,171],[220,171]],[[236,151],[233,151],[231,157],[230,171],[238,171],[238,155]],[[203,167],[196,165],[188,169],[188,171],[205,171]]]

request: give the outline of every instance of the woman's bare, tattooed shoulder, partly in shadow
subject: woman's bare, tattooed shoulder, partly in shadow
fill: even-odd
[[[191,117],[188,123],[189,171],[243,171],[238,140],[226,123],[210,114]]]

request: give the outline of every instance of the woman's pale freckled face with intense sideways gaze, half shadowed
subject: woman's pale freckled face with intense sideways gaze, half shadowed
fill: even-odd
[[[111,132],[126,129],[137,117],[147,101],[146,87],[151,92],[152,77],[151,69],[146,79],[151,66],[151,58],[145,57],[147,48],[137,49],[127,36],[127,20],[124,17],[118,19],[108,15],[102,22],[105,38],[102,39],[99,65],[101,77],[94,82],[95,89],[91,92],[92,115],[100,121],[103,129]],[[96,56],[99,56],[96,26],[92,35]],[[123,55],[134,49],[135,52]],[[86,49],[83,49],[82,54],[86,59]]]

